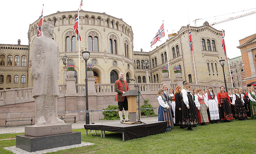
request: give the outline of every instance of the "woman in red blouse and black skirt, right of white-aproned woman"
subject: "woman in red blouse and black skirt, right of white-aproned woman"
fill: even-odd
[[[224,87],[220,87],[220,92],[217,94],[219,104],[219,118],[221,121],[229,122],[233,120],[233,114],[229,104],[231,104],[229,95],[224,91]]]

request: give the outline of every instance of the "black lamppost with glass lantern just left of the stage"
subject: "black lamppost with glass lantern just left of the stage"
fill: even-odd
[[[86,95],[86,113],[85,113],[85,125],[89,125],[90,124],[90,116],[89,116],[89,112],[88,112],[88,79],[87,79],[87,60],[89,59],[90,56],[90,52],[85,50],[82,52],[84,61],[85,61],[85,95]]]

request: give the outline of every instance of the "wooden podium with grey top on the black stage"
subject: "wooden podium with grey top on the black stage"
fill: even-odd
[[[128,112],[129,112],[129,121],[130,122],[123,122],[124,124],[131,124],[136,122],[136,112],[137,112],[137,102],[136,96],[138,96],[137,90],[128,90],[122,96],[128,96]]]

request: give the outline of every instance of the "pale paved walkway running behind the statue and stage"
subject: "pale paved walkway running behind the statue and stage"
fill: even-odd
[[[146,118],[140,118],[141,121],[158,121],[158,117],[146,117]],[[94,123],[98,122],[113,122],[113,121],[120,121],[120,120],[98,120],[94,121]],[[90,121],[91,123],[91,121]],[[78,129],[78,128],[84,128],[85,121],[79,121],[76,123],[71,123],[72,129]],[[8,133],[23,133],[25,131],[25,126],[7,126],[7,127],[0,127],[0,134],[8,134]]]

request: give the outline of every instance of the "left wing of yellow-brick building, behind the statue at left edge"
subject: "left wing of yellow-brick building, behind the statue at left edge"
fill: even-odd
[[[27,87],[28,46],[0,44],[0,90]]]

